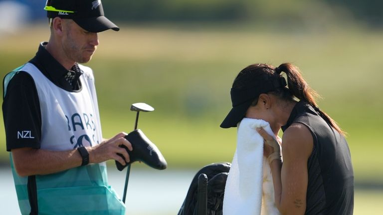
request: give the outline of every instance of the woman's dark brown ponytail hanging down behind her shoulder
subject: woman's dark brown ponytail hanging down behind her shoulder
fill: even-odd
[[[325,112],[321,111],[315,98],[319,97],[317,92],[309,87],[306,81],[303,79],[299,68],[294,66],[291,63],[283,63],[275,68],[275,73],[280,75],[281,72],[285,72],[287,75],[287,84],[288,88],[293,96],[299,100],[303,100],[309,103],[316,112],[335,130],[337,130],[341,135],[345,136],[346,133],[338,126],[338,124]]]

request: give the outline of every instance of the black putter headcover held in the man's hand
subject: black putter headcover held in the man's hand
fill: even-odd
[[[116,161],[116,166],[119,171],[122,171],[126,166],[136,161],[144,162],[146,165],[157,170],[167,168],[168,164],[160,150],[140,129],[130,132],[125,138],[132,144],[133,151],[129,151],[124,145],[120,146],[128,152],[130,162],[123,166]],[[121,154],[118,155],[123,157]]]

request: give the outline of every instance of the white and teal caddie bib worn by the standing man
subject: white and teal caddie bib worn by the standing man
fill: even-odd
[[[84,73],[80,76],[82,88],[76,92],[56,86],[31,63],[26,63],[4,78],[6,89],[7,83],[18,71],[25,71],[32,76],[41,110],[41,149],[73,150],[81,146],[94,146],[102,141],[93,73],[89,67],[79,67]],[[11,167],[21,214],[28,215],[28,177],[19,177],[13,165]],[[125,205],[108,186],[105,162],[37,175],[35,179],[39,215],[125,214]]]

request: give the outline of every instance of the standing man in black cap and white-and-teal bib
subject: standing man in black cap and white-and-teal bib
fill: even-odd
[[[132,145],[103,140],[92,70],[97,33],[119,28],[101,0],[48,0],[50,38],[4,78],[6,148],[22,215],[123,215],[105,161],[125,165]],[[117,155],[123,155],[125,159]]]

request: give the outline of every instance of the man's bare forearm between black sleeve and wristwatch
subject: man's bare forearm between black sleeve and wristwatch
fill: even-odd
[[[18,175],[46,175],[79,167],[82,158],[76,149],[49,151],[43,149],[12,150],[13,163]]]

